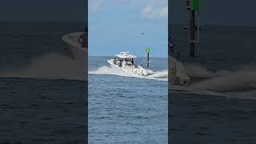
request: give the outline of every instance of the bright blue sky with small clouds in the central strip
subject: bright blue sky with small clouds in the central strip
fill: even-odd
[[[167,0],[89,0],[89,55],[167,57]],[[144,33],[145,35],[143,35]]]

